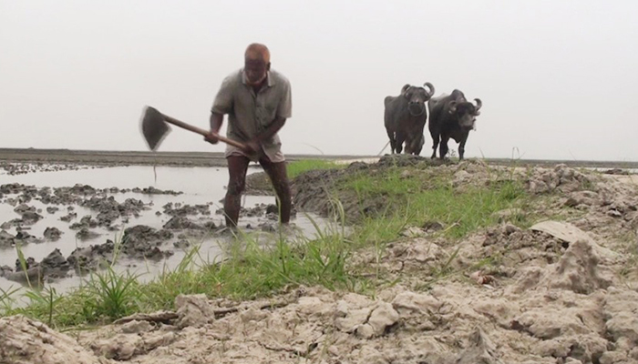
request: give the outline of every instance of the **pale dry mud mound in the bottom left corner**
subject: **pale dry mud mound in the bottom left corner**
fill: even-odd
[[[65,334],[22,315],[0,319],[2,363],[106,364]]]

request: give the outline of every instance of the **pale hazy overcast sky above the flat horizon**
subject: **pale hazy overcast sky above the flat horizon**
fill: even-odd
[[[634,0],[0,0],[0,147],[146,150],[145,105],[208,128],[222,78],[262,42],[293,87],[284,153],[376,155],[384,97],[428,81],[483,100],[467,157],[635,161],[636,14]],[[160,150],[223,147],[174,127]]]

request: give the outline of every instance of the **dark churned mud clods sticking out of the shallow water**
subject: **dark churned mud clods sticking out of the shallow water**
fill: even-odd
[[[0,201],[15,207],[14,212],[17,217],[0,226],[0,249],[14,249],[16,244],[38,244],[66,238],[64,232],[57,227],[46,227],[40,237],[29,232],[32,229],[31,226],[43,218],[42,214],[62,215],[60,211],[67,213],[59,217],[59,220],[67,222],[68,227],[76,232],[73,238],[78,238],[80,241],[96,240],[101,237],[101,234],[94,231],[96,228],[118,230],[120,227],[116,222],[129,222],[130,218],[139,217],[141,213],[150,209],[152,203],[145,204],[136,198],[129,197],[121,203],[118,202],[117,194],[130,192],[173,196],[181,194],[172,190],[162,191],[155,187],[97,189],[87,185],[76,185],[38,189],[22,184],[2,185]],[[45,204],[46,212],[29,206],[29,203],[34,200]],[[78,218],[75,207],[86,207],[95,215]],[[162,211],[158,211],[158,214],[163,213],[170,216],[170,219],[159,229],[145,225],[134,225],[124,229],[121,247],[118,250],[120,254],[134,259],[166,258],[173,254],[173,248],[189,248],[192,239],[214,237],[226,232],[211,220],[211,203],[191,206],[171,202],[163,206]],[[221,213],[221,210],[216,211],[216,215]],[[266,222],[257,227],[247,226],[247,228],[259,228],[266,231],[274,230],[277,215],[278,211],[274,205],[260,204],[242,208],[241,211],[242,217],[264,217]],[[199,217],[199,219],[193,217]],[[15,227],[15,235],[6,231],[10,227]],[[56,248],[40,262],[36,262],[34,258],[27,258],[26,267],[23,267],[16,259],[15,267],[0,268],[0,277],[20,283],[33,283],[67,278],[74,272],[84,274],[110,264],[115,248],[115,242],[107,239],[101,244],[80,246],[66,258]]]

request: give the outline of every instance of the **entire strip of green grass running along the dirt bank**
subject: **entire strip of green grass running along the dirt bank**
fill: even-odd
[[[291,174],[341,167],[320,160],[290,166]],[[291,241],[279,237],[275,244],[264,248],[252,236],[243,236],[227,247],[228,257],[220,262],[202,258],[195,245],[179,267],[162,272],[149,283],[139,283],[137,277],[107,268],[91,274],[86,284],[65,295],[48,288],[0,291],[0,315],[21,313],[64,329],[105,323],[134,312],[171,309],[180,294],[250,299],[299,285],[374,293],[393,284],[386,281],[378,263],[386,244],[396,240],[406,226],[438,221],[445,226],[442,234],[453,241],[495,223],[494,212],[524,208],[529,201],[515,181],[459,190],[450,186],[450,177],[429,169],[406,172],[402,168],[349,177],[335,187],[334,196],[354,194],[361,203],[381,198],[386,209],[363,217],[348,234],[344,208],[334,201],[338,218],[329,227],[316,227],[314,238]],[[518,223],[525,224],[524,218]],[[367,265],[365,272],[352,270],[356,268],[348,262],[362,248],[376,253],[376,268]],[[447,270],[450,262],[441,271]],[[370,268],[376,274],[365,274]],[[17,307],[16,298],[26,298],[28,305]]]

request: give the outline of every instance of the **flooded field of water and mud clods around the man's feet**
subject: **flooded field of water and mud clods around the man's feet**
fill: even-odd
[[[250,167],[248,174],[261,170]],[[200,245],[202,260],[219,261],[233,239],[221,212],[227,179],[224,167],[5,168],[0,171],[0,288],[35,285],[41,278],[63,292],[77,287],[100,262],[113,261],[117,252],[115,270],[141,274],[140,281],[175,268],[194,245]],[[274,241],[274,203],[272,196],[242,198],[242,232],[260,244]],[[314,214],[294,214],[294,234],[313,238],[313,222],[320,228],[327,224]],[[19,250],[26,272],[18,263]]]

